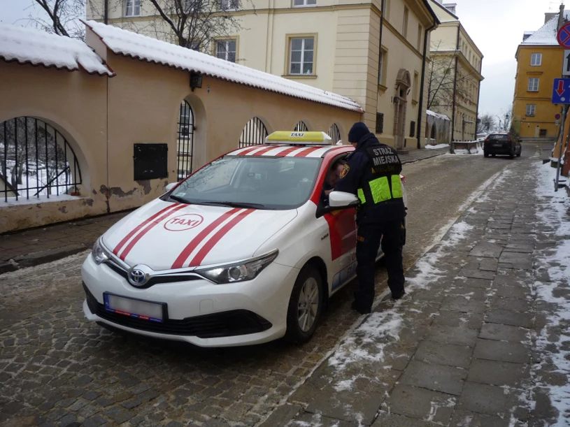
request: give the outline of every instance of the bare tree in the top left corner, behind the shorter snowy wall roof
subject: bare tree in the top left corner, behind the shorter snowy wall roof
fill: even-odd
[[[85,28],[77,19],[85,17],[85,0],[34,0],[47,17],[29,15],[27,20],[51,34],[85,40]],[[32,5],[34,3],[31,3]]]

